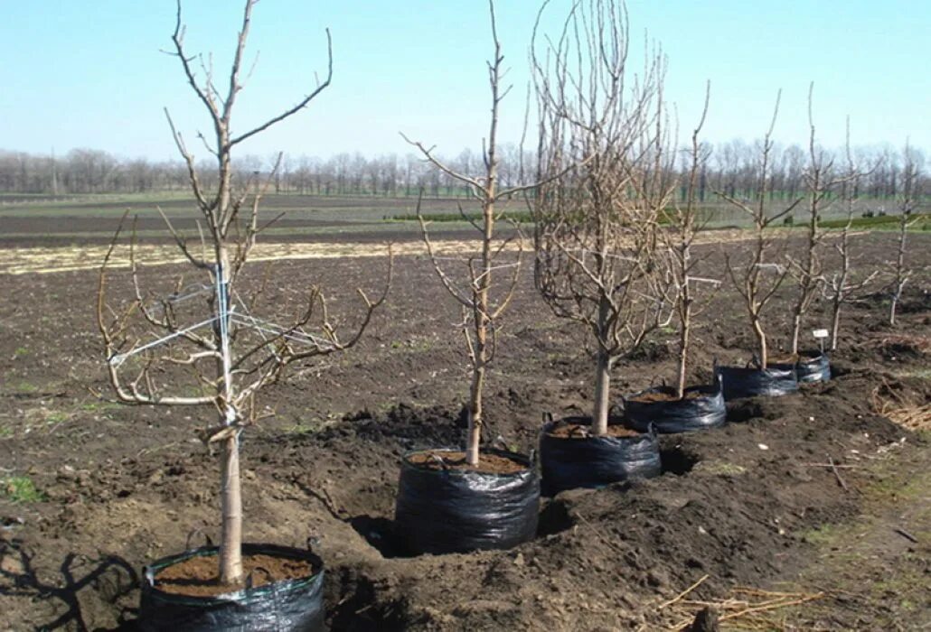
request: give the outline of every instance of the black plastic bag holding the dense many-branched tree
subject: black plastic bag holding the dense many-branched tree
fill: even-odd
[[[639,437],[554,437],[561,424],[591,423],[587,417],[551,421],[540,437],[540,467],[547,495],[578,487],[598,488],[632,478],[659,476],[659,441],[653,431]]]

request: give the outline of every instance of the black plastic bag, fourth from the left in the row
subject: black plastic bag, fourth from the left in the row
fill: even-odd
[[[675,395],[674,388],[648,388],[624,400],[624,420],[629,428],[646,432],[650,425],[657,432],[692,432],[721,426],[727,418],[720,384],[686,388],[682,400],[638,402],[649,393]]]

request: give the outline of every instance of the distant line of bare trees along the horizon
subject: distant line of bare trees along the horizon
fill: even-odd
[[[512,187],[521,183],[524,175],[533,174],[534,157],[510,145],[502,148],[499,166],[500,183]],[[708,146],[708,159],[698,174],[699,202],[709,201],[715,191],[733,197],[749,197],[756,191],[754,174],[758,152],[753,143],[734,140]],[[928,174],[924,170],[924,154],[911,149],[917,158],[919,191],[931,192]],[[792,199],[804,191],[806,151],[798,145],[778,148],[772,179],[768,184],[773,197]],[[236,178],[250,183],[257,176],[269,176],[277,156],[263,159],[246,156],[236,162]],[[903,151],[885,148],[857,148],[853,158],[861,169],[871,169],[858,183],[857,195],[877,200],[892,199],[902,194]],[[837,152],[836,169],[843,170],[846,156]],[[480,154],[461,151],[446,161],[460,173],[481,171]],[[210,186],[215,165],[205,161],[200,169],[201,182]],[[180,160],[152,162],[141,158],[123,159],[106,151],[76,149],[61,157],[35,155],[22,151],[0,150],[0,192],[20,194],[66,195],[80,193],[146,193],[186,191],[187,167]],[[423,160],[408,154],[366,157],[360,153],[340,153],[331,158],[285,155],[271,191],[304,195],[378,195],[399,197],[417,195],[424,190],[431,197],[466,197],[466,187],[431,169]],[[682,189],[684,194],[684,186]]]

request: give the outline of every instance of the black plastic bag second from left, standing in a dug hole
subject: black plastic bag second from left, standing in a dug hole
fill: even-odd
[[[536,534],[540,477],[527,457],[483,450],[527,467],[513,474],[486,474],[418,467],[408,460],[412,454],[401,459],[395,507],[396,533],[411,552],[510,548]]]

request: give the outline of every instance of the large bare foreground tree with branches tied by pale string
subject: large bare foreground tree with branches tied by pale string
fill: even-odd
[[[240,433],[259,415],[256,396],[265,387],[281,379],[285,368],[293,363],[349,349],[358,342],[371,321],[372,313],[382,305],[390,284],[388,277],[381,296],[371,299],[359,290],[362,306],[358,326],[350,336],[340,336],[331,320],[327,301],[320,288],[311,286],[302,298],[302,307],[290,324],[277,325],[252,315],[251,311],[265,290],[268,279],[258,287],[240,283],[240,273],[250,257],[257,236],[275,219],[260,225],[259,204],[280,165],[271,169],[260,186],[259,176],[243,181],[234,177],[233,150],[243,141],[260,134],[272,125],[303,110],[327,86],[332,76],[332,49],[327,31],[328,69],[325,78],[294,106],[265,120],[248,131],[234,133],[232,116],[236,97],[243,89],[243,56],[249,37],[252,8],[257,0],[247,0],[230,67],[228,87],[214,81],[211,63],[189,55],[184,48],[181,3],[171,40],[172,55],[181,62],[182,72],[209,114],[212,138],[198,134],[206,151],[215,161],[215,185],[206,187],[209,174],[201,174],[194,153],[188,148],[168,112],[172,137],[187,165],[191,189],[200,221],[200,244],[195,247],[175,230],[165,218],[184,260],[201,275],[202,283],[184,285],[183,277],[174,294],[157,298],[143,293],[141,266],[134,247],[129,245],[132,295],[123,301],[108,299],[108,268],[112,264],[114,241],[104,258],[100,272],[97,319],[105,345],[108,375],[116,397],[129,404],[156,406],[209,406],[219,415],[219,424],[210,424],[200,434],[209,446],[221,449],[222,538],[219,579],[223,585],[239,585],[242,567],[242,498],[239,481]],[[195,63],[199,60],[199,71]],[[254,178],[254,179],[253,179]],[[279,216],[280,217],[280,216]],[[277,219],[277,218],[276,218]],[[135,231],[133,231],[135,233]],[[135,234],[133,235],[135,237]],[[389,250],[390,252],[390,250]],[[191,289],[191,288],[194,289]],[[240,292],[246,296],[240,296]],[[187,325],[184,299],[204,298],[198,303],[209,317]],[[199,309],[197,310],[199,311]],[[204,318],[200,312],[200,318]],[[186,371],[193,383],[186,387],[172,384]],[[177,395],[172,393],[190,393]]]

